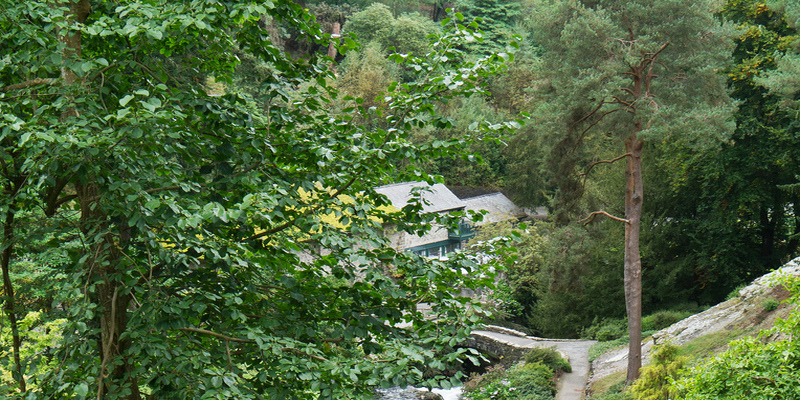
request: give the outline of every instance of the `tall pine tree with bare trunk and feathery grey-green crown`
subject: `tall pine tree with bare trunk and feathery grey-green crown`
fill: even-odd
[[[536,135],[570,143],[574,154],[590,138],[624,151],[594,159],[581,171],[625,160],[624,216],[592,212],[625,224],[624,287],[630,351],[628,382],[641,366],[641,257],[644,205],[642,160],[649,140],[701,148],[730,131],[731,101],[717,71],[728,53],[712,1],[539,0],[532,29],[543,50],[534,109]],[[602,135],[602,136],[598,136]],[[567,140],[569,139],[569,140]],[[570,163],[570,165],[575,165]],[[572,172],[572,171],[568,171]],[[575,173],[575,172],[573,172]],[[581,188],[581,185],[573,185]]]

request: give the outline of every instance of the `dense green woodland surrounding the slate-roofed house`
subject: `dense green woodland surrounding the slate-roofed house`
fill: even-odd
[[[790,1],[4,0],[0,28],[9,396],[449,386],[490,313],[623,336],[627,265],[640,316],[692,313],[800,245]],[[548,218],[426,260],[383,226],[479,216],[386,211],[408,180]],[[491,310],[459,296],[499,270]]]

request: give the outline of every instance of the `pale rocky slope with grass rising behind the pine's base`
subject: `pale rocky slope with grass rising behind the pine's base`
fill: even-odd
[[[670,341],[689,349],[696,358],[723,351],[736,338],[757,335],[771,328],[776,318],[785,318],[794,309],[784,304],[790,293],[775,282],[780,276],[800,275],[800,258],[786,263],[739,290],[739,295],[699,314],[662,329],[642,343],[643,364],[647,364],[654,344]],[[777,302],[777,307],[775,307]],[[769,339],[777,339],[771,337]],[[592,362],[587,382],[589,391],[599,392],[624,379],[627,346],[610,350]]]

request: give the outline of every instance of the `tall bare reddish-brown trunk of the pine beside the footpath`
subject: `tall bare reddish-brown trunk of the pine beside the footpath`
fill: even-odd
[[[628,376],[630,384],[639,377],[642,366],[642,260],[639,254],[639,226],[642,219],[642,148],[636,132],[625,140],[629,154],[625,167],[625,309],[628,314]]]

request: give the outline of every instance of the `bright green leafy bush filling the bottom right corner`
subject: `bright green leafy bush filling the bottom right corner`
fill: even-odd
[[[800,300],[800,283],[787,278],[782,284]],[[792,337],[800,333],[800,316],[792,313],[776,321],[775,328],[762,332],[784,339],[762,341],[747,337],[730,344],[730,349],[686,371],[674,383],[674,399],[725,398],[733,400],[798,399],[800,345]]]

